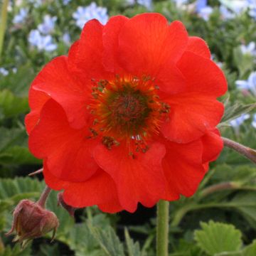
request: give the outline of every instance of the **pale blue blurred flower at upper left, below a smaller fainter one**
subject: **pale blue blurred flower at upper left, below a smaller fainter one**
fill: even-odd
[[[38,50],[53,51],[57,45],[53,43],[52,36],[42,36],[38,30],[32,30],[28,35],[28,42]]]

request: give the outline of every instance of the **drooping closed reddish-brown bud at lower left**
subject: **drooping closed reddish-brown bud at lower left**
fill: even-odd
[[[6,235],[11,235],[11,233],[15,232],[16,238],[14,238],[14,242],[21,242],[22,245],[25,245],[28,240],[45,235],[50,230],[53,230],[54,238],[59,225],[55,213],[27,199],[18,203],[13,215],[14,220],[11,230]]]

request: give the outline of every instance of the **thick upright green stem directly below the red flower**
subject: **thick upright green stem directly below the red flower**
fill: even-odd
[[[156,217],[156,256],[168,256],[169,202],[160,200]]]

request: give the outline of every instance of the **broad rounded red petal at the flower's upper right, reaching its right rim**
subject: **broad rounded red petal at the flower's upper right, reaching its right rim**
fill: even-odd
[[[178,61],[178,68],[186,78],[186,92],[219,97],[227,91],[225,76],[212,60],[185,52]]]

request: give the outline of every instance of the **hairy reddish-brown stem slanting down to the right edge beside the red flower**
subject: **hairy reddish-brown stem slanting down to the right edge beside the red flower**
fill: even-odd
[[[227,146],[230,149],[234,149],[239,154],[242,154],[242,156],[247,157],[247,159],[250,159],[253,163],[256,164],[256,151],[254,149],[250,149],[250,147],[243,146],[242,144],[238,142],[234,142],[231,139],[227,139],[222,137],[224,146]]]

